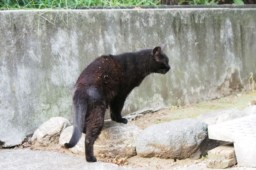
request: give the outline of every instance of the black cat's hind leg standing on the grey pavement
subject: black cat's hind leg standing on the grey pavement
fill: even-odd
[[[86,136],[85,136],[85,159],[87,162],[97,161],[93,154],[93,144],[99,137],[104,124],[106,103],[104,100],[98,100],[89,106],[89,115],[86,118]]]

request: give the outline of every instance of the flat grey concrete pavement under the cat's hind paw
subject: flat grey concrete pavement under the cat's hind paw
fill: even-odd
[[[1,170],[135,170],[116,164],[88,163],[81,157],[42,150],[0,150]]]

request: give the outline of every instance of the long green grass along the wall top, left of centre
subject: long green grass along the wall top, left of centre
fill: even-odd
[[[0,0],[0,10],[9,9],[79,9],[90,6],[157,6],[160,0]]]

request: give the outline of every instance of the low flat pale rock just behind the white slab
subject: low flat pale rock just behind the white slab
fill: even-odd
[[[198,119],[201,119],[208,125],[214,125],[216,123],[237,119],[243,116],[248,116],[248,114],[242,111],[238,111],[236,109],[225,109],[203,113],[200,116],[198,116]]]

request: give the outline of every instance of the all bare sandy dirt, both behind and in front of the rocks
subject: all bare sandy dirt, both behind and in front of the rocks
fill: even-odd
[[[236,108],[242,111],[248,106],[252,101],[256,100],[256,93],[241,92],[239,94],[230,95],[227,97],[222,97],[220,99],[214,99],[212,101],[201,102],[188,106],[173,106],[169,109],[162,109],[154,113],[147,113],[140,118],[129,121],[129,124],[136,125],[142,129],[146,127],[163,122],[170,122],[177,119],[185,118],[196,118],[202,113],[209,111],[215,111],[220,109],[229,109]],[[72,156],[84,157],[81,155],[76,155],[71,153],[69,150],[61,147],[60,145],[54,147],[35,147],[30,144],[23,144],[16,148],[29,148],[31,150],[49,150],[59,153],[64,153]],[[99,161],[109,162],[119,164],[120,166],[125,167],[134,167],[136,169],[144,170],[167,170],[167,169],[180,169],[183,167],[202,167],[206,169],[206,160],[207,156],[202,157],[201,159],[185,159],[185,160],[174,160],[174,159],[160,159],[160,158],[142,158],[139,156],[134,156],[131,158],[119,158],[116,159],[100,159]],[[239,165],[234,165],[238,167]],[[232,168],[231,168],[232,169]]]

